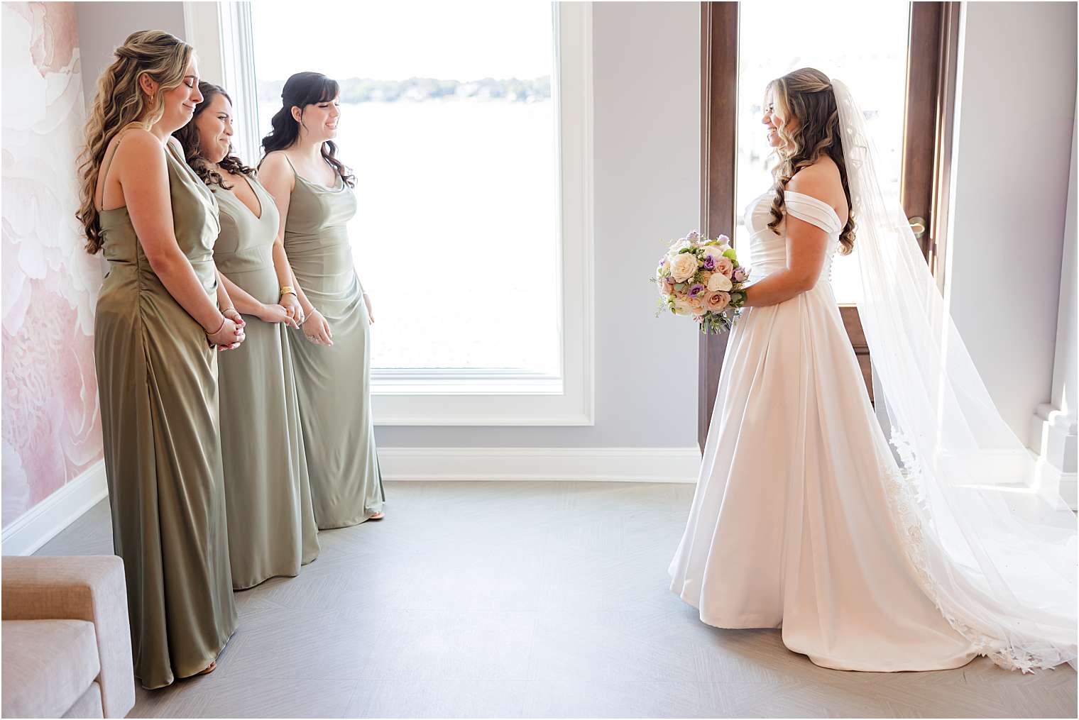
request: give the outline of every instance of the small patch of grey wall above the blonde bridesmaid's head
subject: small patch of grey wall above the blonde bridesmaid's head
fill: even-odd
[[[182,2],[77,2],[79,50],[86,107],[97,94],[97,77],[112,63],[112,51],[136,30],[165,30],[183,39]]]

